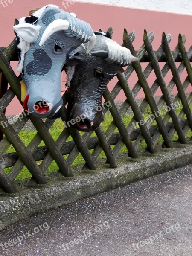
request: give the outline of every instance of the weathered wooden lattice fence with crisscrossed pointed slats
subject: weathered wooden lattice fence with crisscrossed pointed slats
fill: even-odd
[[[137,151],[143,140],[145,140],[147,150],[151,154],[156,152],[157,141],[161,135],[164,141],[163,146],[167,148],[172,148],[172,137],[175,134],[175,131],[177,132],[180,143],[186,144],[191,141],[191,139],[186,139],[186,134],[189,129],[192,130],[192,114],[189,108],[189,105],[192,102],[192,93],[190,93],[187,98],[185,91],[187,87],[192,84],[192,67],[190,64],[190,61],[192,60],[192,47],[190,47],[187,52],[184,46],[186,38],[185,36],[182,37],[179,35],[178,44],[174,51],[171,52],[169,48],[171,35],[168,34],[166,36],[163,33],[162,43],[159,49],[154,52],[154,49],[151,46],[151,42],[154,39],[154,33],[150,32],[147,34],[147,32],[144,31],[144,43],[138,51],[135,51],[132,44],[134,38],[134,32],[128,34],[125,30],[122,45],[129,48],[132,55],[137,56],[139,61],[130,64],[125,73],[118,74],[117,77],[119,82],[115,85],[111,93],[107,88],[103,95],[105,101],[110,101],[112,105],[110,112],[113,121],[108,126],[107,131],[104,132],[100,126],[96,130],[96,137],[91,137],[93,132],[87,132],[81,136],[79,131],[73,127],[69,127],[63,129],[56,141],[53,140],[49,133],[49,129],[55,122],[54,119],[47,119],[43,122],[41,119],[37,119],[31,114],[28,115],[26,111],[23,111],[23,118],[21,120],[18,119],[13,125],[7,122],[5,116],[6,107],[15,95],[19,100],[21,99],[20,77],[17,78],[9,64],[10,61],[17,61],[16,39],[12,41],[9,47],[0,47],[0,122],[6,122],[6,125],[0,125],[1,131],[4,134],[4,137],[2,136],[0,141],[1,192],[14,193],[17,191],[14,180],[22,170],[23,166],[26,166],[32,174],[29,185],[35,185],[36,183],[45,184],[47,183],[47,180],[44,173],[53,160],[55,160],[55,163],[58,165],[58,175],[72,177],[73,172],[71,164],[76,159],[79,152],[85,161],[83,169],[94,170],[97,168],[96,160],[102,150],[105,152],[108,160],[107,163],[109,163],[111,167],[116,167],[118,164],[116,158],[124,145],[126,145],[129,152],[129,157],[137,158]],[[148,62],[144,71],[140,62]],[[160,68],[159,62],[164,62],[162,69]],[[178,68],[176,67],[175,62],[180,62]],[[187,77],[182,84],[180,75],[184,69],[187,71]],[[133,90],[131,90],[128,84],[128,79],[134,70],[137,74],[138,81]],[[152,70],[154,70],[156,80],[150,88],[147,78]],[[169,84],[166,84],[164,78],[169,70],[172,72],[172,80]],[[7,90],[8,84],[10,84],[9,90]],[[172,101],[170,92],[175,85],[178,94]],[[159,101],[156,102],[154,94],[159,87],[162,91],[162,96]],[[143,102],[139,106],[137,105],[135,97],[141,88],[143,88],[145,93],[145,99],[143,99]],[[124,91],[127,99],[118,111],[114,100],[120,90]],[[67,93],[65,92],[63,95],[64,104],[61,114],[61,119],[63,121],[67,121],[67,109],[65,108],[65,105],[67,104],[66,94]],[[175,108],[172,108],[173,104],[177,101],[181,101],[183,106],[179,115],[176,114]],[[170,111],[166,113],[163,119],[161,116],[154,115],[157,125],[152,125],[152,119],[148,122],[143,119],[143,113],[148,105],[151,108],[152,115],[158,113],[159,109],[161,109],[165,103],[170,107]],[[128,126],[125,126],[122,117],[125,115],[128,108],[132,109],[134,117],[131,119]],[[103,113],[105,114],[107,111],[108,108],[104,108]],[[184,115],[186,115],[186,119],[183,119]],[[172,122],[169,122],[170,118],[172,119]],[[18,136],[18,133],[29,119],[35,126],[37,134],[26,147]],[[133,122],[139,122],[140,128],[135,129],[134,125],[132,125]],[[116,128],[118,128],[119,132],[114,132]],[[73,141],[67,142],[66,140],[70,135],[73,138]],[[42,140],[44,141],[45,146],[38,147]],[[5,154],[10,145],[15,148],[16,152]],[[113,150],[111,145],[115,145]],[[92,154],[90,153],[90,149],[94,149]],[[67,160],[64,159],[64,155],[68,155]],[[40,160],[42,162],[38,165],[36,162]],[[8,174],[3,170],[7,167],[12,167]]]

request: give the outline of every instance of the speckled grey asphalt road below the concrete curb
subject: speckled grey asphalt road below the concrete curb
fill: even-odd
[[[192,165],[35,215],[0,242],[2,256],[192,256]]]

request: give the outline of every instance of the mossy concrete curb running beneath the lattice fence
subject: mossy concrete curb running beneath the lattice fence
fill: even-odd
[[[99,161],[96,171],[88,173],[76,166],[73,178],[56,177],[51,173],[47,175],[47,185],[26,187],[26,181],[22,181],[18,183],[17,194],[0,195],[0,230],[35,213],[192,163],[192,145],[179,146],[172,149],[160,147],[153,155],[140,150],[139,159],[130,159],[127,154],[122,154],[117,159],[119,167],[115,169],[106,168],[105,160]]]

